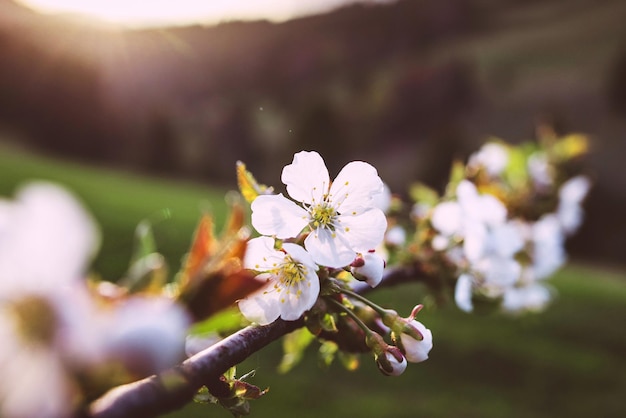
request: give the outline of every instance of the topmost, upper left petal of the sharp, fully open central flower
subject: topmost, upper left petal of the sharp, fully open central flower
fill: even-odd
[[[330,187],[330,176],[322,157],[315,151],[301,151],[293,156],[293,162],[281,176],[287,193],[303,203],[320,203]]]

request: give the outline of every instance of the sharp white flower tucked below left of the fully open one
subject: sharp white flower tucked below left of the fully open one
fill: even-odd
[[[244,267],[258,271],[267,282],[256,293],[239,301],[241,313],[250,321],[266,325],[278,317],[293,321],[315,304],[320,291],[317,265],[311,255],[296,244],[274,248],[274,239],[258,237],[248,241]]]

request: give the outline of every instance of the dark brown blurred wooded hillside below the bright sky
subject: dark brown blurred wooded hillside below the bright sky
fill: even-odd
[[[283,23],[125,31],[0,0],[0,123],[49,153],[212,183],[232,185],[234,163],[243,160],[260,181],[278,185],[294,152],[315,149],[331,172],[364,159],[394,190],[414,179],[440,186],[451,161],[486,134],[525,140],[539,117],[559,120],[564,131],[599,134],[594,121],[585,123],[598,113],[581,107],[562,117],[550,82],[543,90],[539,84],[543,96],[516,96],[526,79],[545,75],[528,64],[535,48],[546,48],[541,39],[522,50],[524,65],[517,50],[511,58],[508,45],[493,47],[499,55],[490,45],[503,33],[517,45],[516,30],[536,32],[564,16],[584,16],[589,30],[576,23],[576,31],[598,42],[626,39],[623,22],[606,18],[626,12],[623,4],[601,3],[608,12],[594,11],[595,20],[593,0],[399,0]],[[562,54],[573,48],[559,42]],[[606,102],[620,118],[626,48],[616,58],[619,49],[607,49],[613,43],[602,45],[611,56],[602,67],[606,83],[586,103]],[[546,66],[558,70],[563,61]],[[574,99],[564,91],[563,102],[580,100],[579,90]],[[515,115],[521,122],[511,122]],[[623,207],[624,193],[603,193],[598,211]],[[598,238],[593,222],[579,243]],[[618,259],[614,245],[581,249]]]

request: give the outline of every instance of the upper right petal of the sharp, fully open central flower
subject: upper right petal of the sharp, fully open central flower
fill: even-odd
[[[373,198],[383,191],[376,169],[363,161],[353,161],[333,181],[329,199],[339,213],[349,213],[374,206]]]

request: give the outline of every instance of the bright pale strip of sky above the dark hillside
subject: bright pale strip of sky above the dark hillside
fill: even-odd
[[[215,24],[228,20],[284,21],[350,3],[389,1],[391,0],[17,0],[41,13],[86,15],[135,28]]]

